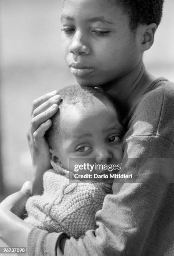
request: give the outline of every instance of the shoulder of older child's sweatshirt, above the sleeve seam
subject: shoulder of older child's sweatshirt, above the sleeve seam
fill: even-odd
[[[129,136],[162,136],[172,139],[174,127],[174,83],[154,80],[129,114]]]

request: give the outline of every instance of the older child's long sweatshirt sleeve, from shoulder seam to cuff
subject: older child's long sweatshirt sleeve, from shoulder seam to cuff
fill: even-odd
[[[97,229],[87,231],[78,240],[34,229],[28,238],[28,255],[163,255],[160,246],[166,234],[162,237],[157,227],[159,223],[161,228],[166,226],[169,215],[161,212],[173,205],[174,188],[167,179],[173,174],[174,144],[160,136],[132,136],[126,141],[128,152],[130,159],[125,157],[121,173],[133,174],[134,179],[114,180],[113,194],[106,195],[102,209],[96,213]],[[170,210],[173,212],[174,207]],[[156,230],[158,236],[154,235]],[[155,246],[159,254],[150,252]],[[42,254],[37,254],[35,248]]]

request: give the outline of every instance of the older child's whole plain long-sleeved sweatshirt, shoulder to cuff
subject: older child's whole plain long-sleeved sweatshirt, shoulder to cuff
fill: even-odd
[[[113,194],[96,213],[98,228],[78,240],[33,228],[27,255],[174,255],[174,177],[167,182],[174,174],[174,84],[161,78],[152,82],[126,126],[124,159],[130,161],[123,162],[120,173],[138,170],[134,182],[114,180]]]

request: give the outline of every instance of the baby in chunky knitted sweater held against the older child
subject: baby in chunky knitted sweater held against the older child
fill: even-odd
[[[124,128],[115,106],[101,91],[75,85],[59,93],[63,101],[46,134],[53,169],[44,174],[43,195],[28,200],[25,221],[79,238],[96,229],[95,214],[112,190],[111,184],[94,180],[70,182],[74,170],[69,160],[102,166],[111,164],[112,159],[118,162],[123,154]]]

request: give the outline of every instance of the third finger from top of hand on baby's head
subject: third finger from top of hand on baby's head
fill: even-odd
[[[35,116],[31,120],[31,134],[33,134],[39,126],[50,119],[58,111],[58,105],[53,104],[50,108]]]

